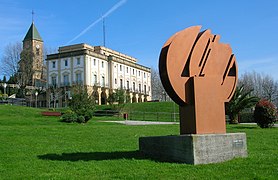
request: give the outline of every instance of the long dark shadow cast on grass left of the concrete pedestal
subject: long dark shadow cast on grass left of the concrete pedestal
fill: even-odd
[[[52,161],[103,161],[116,159],[146,159],[139,151],[77,152],[38,155],[39,159]]]

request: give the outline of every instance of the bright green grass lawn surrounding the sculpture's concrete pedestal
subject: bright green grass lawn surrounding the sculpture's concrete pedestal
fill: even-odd
[[[248,158],[219,164],[157,162],[138,138],[178,134],[178,125],[64,124],[39,109],[0,106],[0,179],[277,179],[278,128],[228,125],[247,134]]]

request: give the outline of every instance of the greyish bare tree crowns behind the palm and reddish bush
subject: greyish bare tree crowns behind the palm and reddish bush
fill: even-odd
[[[269,100],[278,105],[278,81],[273,77],[255,71],[243,74],[239,79],[246,91],[252,90],[252,95]]]

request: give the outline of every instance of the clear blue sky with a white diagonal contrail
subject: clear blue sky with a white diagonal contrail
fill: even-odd
[[[22,42],[32,10],[48,49],[103,45],[105,17],[106,47],[158,68],[165,41],[201,25],[230,44],[239,75],[256,71],[278,80],[277,0],[0,0],[0,57],[9,43]]]

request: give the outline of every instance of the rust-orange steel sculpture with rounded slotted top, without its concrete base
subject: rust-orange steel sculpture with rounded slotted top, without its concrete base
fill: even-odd
[[[164,44],[159,73],[180,106],[180,134],[226,133],[225,102],[235,91],[237,63],[228,44],[201,26],[184,29]]]

